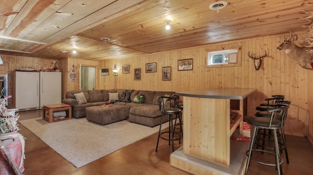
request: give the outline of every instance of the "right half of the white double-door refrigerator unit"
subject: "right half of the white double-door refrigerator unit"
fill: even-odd
[[[62,102],[62,73],[40,72],[40,108]]]

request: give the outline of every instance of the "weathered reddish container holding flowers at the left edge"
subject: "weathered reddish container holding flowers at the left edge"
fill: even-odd
[[[24,171],[22,158],[22,142],[18,137],[18,132],[1,133],[0,140],[2,141],[7,153],[12,157],[14,162],[20,167],[21,172]],[[13,168],[10,166],[8,160],[0,150],[0,175],[15,175]]]

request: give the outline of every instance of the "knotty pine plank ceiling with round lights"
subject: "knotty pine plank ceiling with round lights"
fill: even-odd
[[[209,9],[216,1],[2,0],[0,54],[125,58],[302,31],[308,14],[301,10],[313,11],[308,0],[225,0],[217,12]]]

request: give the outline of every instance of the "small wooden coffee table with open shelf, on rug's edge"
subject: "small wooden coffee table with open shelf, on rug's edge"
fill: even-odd
[[[61,120],[67,120],[72,118],[72,107],[69,104],[49,104],[49,105],[44,105],[43,107],[44,110],[44,116],[43,119],[49,123],[55,122],[55,121],[61,121]],[[53,112],[54,111],[66,111],[67,116],[64,118],[59,118],[59,119],[53,119]],[[48,117],[47,116],[48,114]]]

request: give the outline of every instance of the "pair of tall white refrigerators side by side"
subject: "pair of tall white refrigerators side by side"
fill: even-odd
[[[62,102],[61,72],[16,72],[15,107],[18,111],[41,109]]]

